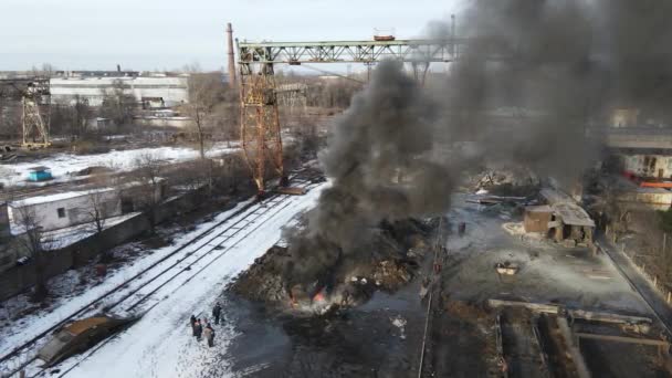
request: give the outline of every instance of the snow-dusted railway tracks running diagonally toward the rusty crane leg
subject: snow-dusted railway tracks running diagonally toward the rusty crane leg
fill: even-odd
[[[294,186],[298,185],[303,187],[307,191],[319,185],[322,180],[321,177],[315,175],[302,177],[300,174],[294,176],[291,182]],[[41,332],[30,340],[17,346],[9,354],[0,357],[0,366],[11,366],[10,368],[2,367],[4,371],[9,370],[9,372],[0,370],[1,377],[11,377],[31,365],[35,358],[27,359],[25,355],[29,354],[29,350],[36,349],[38,345],[41,344],[40,342],[44,340],[49,334],[84,315],[98,313],[101,308],[105,313],[115,315],[129,315],[133,312],[138,313],[140,311],[148,311],[153,305],[147,304],[147,302],[149,302],[157,292],[169,284],[175,283],[178,277],[187,276],[185,281],[179,282],[177,286],[172,287],[171,292],[183,286],[206,267],[223,258],[246,235],[254,232],[267,219],[271,219],[288,204],[287,196],[272,193],[264,200],[250,202],[243,206],[222,221],[181,244],[168,255],[96,297],[78,311],[70,314],[57,324]],[[266,216],[269,217],[264,219]],[[221,228],[228,222],[232,223]],[[227,243],[229,244],[224,246]],[[189,250],[190,248],[191,250]],[[183,253],[180,254],[180,252]],[[178,259],[170,263],[169,260],[178,254]],[[167,266],[164,266],[166,264]],[[191,272],[192,267],[196,267],[195,272]],[[136,283],[137,285],[134,285]],[[128,287],[132,287],[132,285],[133,288],[128,292],[127,290]],[[144,307],[140,308],[143,304]],[[156,305],[156,303],[154,305]],[[42,371],[44,371],[44,369],[40,372]]]

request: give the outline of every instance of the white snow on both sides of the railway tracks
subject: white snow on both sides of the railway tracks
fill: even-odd
[[[198,376],[203,365],[212,364],[217,356],[221,356],[225,351],[228,340],[235,335],[235,329],[230,326],[216,326],[217,347],[208,348],[204,344],[197,345],[190,336],[189,316],[191,314],[197,314],[199,317],[209,315],[210,308],[218,295],[221,294],[222,288],[235,275],[252,264],[254,259],[272,246],[281,238],[282,228],[291,223],[297,213],[315,204],[323,187],[324,185],[311,190],[303,197],[286,198],[281,206],[270,209],[254,222],[248,224],[244,232],[235,238],[227,240],[221,237],[219,239],[206,238],[206,240],[195,243],[193,246],[190,245],[176,258],[197,256],[202,253],[200,251],[204,250],[217,251],[185,262],[185,264],[189,264],[189,270],[182,276],[165,285],[161,284],[166,280],[159,280],[146,287],[140,287],[143,279],[138,280],[137,283],[132,283],[127,291],[132,291],[136,286],[140,288],[134,297],[151,293],[154,288],[160,288],[139,307],[140,311],[149,309],[148,313],[129,329],[105,343],[99,350],[73,357],[56,368],[61,370],[61,374],[66,372],[69,377]],[[4,355],[14,346],[48,329],[76,309],[83,308],[109,288],[227,218],[232,211],[235,211],[235,209],[218,216],[212,222],[199,225],[193,232],[176,240],[175,246],[159,249],[146,259],[117,271],[104,283],[91,288],[84,295],[69,301],[64,300],[61,306],[48,314],[35,314],[24,319],[24,325],[21,327],[12,327],[11,332],[14,332],[13,334],[10,329],[2,329],[0,332],[0,355]],[[230,227],[231,222],[235,221],[237,219],[233,218],[222,227]],[[172,263],[175,259],[171,258],[168,261]],[[182,267],[182,265],[180,264],[179,267]],[[118,296],[120,294],[116,295],[116,297]],[[109,303],[109,301],[106,303]],[[225,317],[225,304],[223,313]],[[225,370],[224,366],[221,368]]]

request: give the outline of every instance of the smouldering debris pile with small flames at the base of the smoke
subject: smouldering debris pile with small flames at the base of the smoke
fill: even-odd
[[[243,273],[233,291],[273,307],[323,313],[334,306],[354,306],[376,290],[392,292],[416,275],[428,250],[433,228],[412,219],[382,222],[367,244],[358,248],[366,260],[344,261],[313,282],[286,275],[294,263],[291,248],[273,246]]]

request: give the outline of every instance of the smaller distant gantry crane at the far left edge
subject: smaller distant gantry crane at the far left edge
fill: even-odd
[[[51,91],[49,77],[0,80],[0,97],[21,101],[22,146],[49,147]]]

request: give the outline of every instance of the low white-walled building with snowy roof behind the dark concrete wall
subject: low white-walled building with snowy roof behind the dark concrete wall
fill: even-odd
[[[30,214],[34,214],[36,222],[44,231],[87,223],[92,221],[91,208],[94,200],[92,196],[96,196],[95,201],[99,201],[98,203],[104,206],[106,218],[122,214],[120,200],[116,191],[111,190],[94,195],[83,193],[54,201],[30,202],[30,199],[17,201],[10,204],[9,217],[12,223],[18,227],[21,222],[20,211],[25,209]]]

